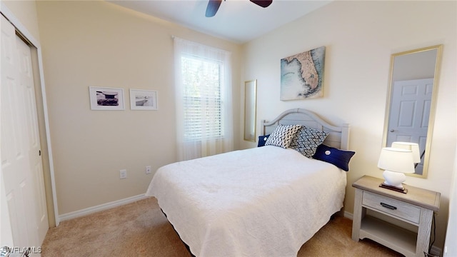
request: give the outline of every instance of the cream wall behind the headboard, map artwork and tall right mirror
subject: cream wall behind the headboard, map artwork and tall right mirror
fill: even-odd
[[[297,107],[336,124],[351,124],[350,148],[356,155],[348,172],[345,210],[352,213],[351,184],[363,175],[382,178],[376,164],[391,54],[443,44],[428,178],[406,181],[441,192],[439,248],[446,233],[456,151],[456,10],[456,1],[336,1],[243,46],[241,69],[243,80],[258,81],[258,128],[261,119]],[[323,98],[279,101],[280,59],[319,46],[326,46]],[[241,146],[254,144],[241,139]]]

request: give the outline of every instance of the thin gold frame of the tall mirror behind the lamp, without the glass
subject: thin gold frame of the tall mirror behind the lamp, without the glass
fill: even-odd
[[[430,157],[430,148],[431,148],[431,137],[433,134],[433,124],[435,122],[435,114],[436,114],[436,101],[438,99],[438,77],[440,73],[440,63],[441,63],[441,52],[443,51],[443,45],[436,45],[436,46],[428,46],[421,49],[414,49],[411,51],[403,51],[400,53],[392,54],[391,55],[391,67],[389,71],[389,80],[388,80],[388,90],[387,90],[387,99],[386,99],[386,114],[384,115],[384,129],[383,129],[383,147],[386,146],[387,143],[387,134],[388,134],[388,120],[389,115],[391,113],[391,94],[393,90],[393,64],[395,62],[395,58],[397,56],[404,56],[408,54],[416,54],[423,51],[430,51],[436,49],[436,62],[435,62],[435,72],[433,74],[433,91],[431,96],[431,106],[430,106],[430,115],[428,116],[428,130],[427,130],[427,139],[426,139],[426,147],[425,147],[425,154],[423,156],[423,170],[422,174],[416,173],[406,173],[408,176],[414,176],[418,178],[427,178],[428,175],[428,160]]]

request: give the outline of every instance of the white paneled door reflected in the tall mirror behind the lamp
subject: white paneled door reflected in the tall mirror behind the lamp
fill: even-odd
[[[394,141],[413,142],[419,144],[420,153],[425,151],[432,91],[433,79],[393,82],[387,146]],[[416,173],[422,169],[423,158]]]

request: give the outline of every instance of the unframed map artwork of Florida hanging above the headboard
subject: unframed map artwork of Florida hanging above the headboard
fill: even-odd
[[[281,59],[281,101],[321,97],[326,47]]]

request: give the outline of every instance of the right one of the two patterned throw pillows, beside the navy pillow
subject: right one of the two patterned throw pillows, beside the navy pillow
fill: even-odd
[[[298,151],[308,158],[312,158],[316,153],[316,148],[328,136],[327,131],[320,131],[302,126],[301,129],[292,138],[290,148]]]

